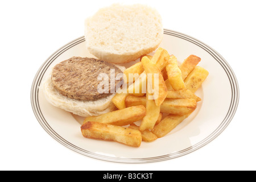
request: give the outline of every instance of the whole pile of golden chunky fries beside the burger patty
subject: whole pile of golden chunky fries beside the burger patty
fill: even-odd
[[[190,55],[178,65],[177,58],[161,47],[152,56],[142,56],[124,71],[127,93],[118,92],[112,98],[118,110],[86,117],[82,135],[133,147],[166,136],[201,101],[195,92],[209,73],[197,66],[200,61]]]

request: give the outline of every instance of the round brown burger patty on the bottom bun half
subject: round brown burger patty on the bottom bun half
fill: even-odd
[[[52,82],[64,96],[94,101],[112,94],[110,93],[110,69],[115,69],[115,76],[123,73],[114,64],[106,61],[89,57],[71,57],[55,65],[52,71]],[[97,90],[98,84],[102,82],[97,80],[100,73],[106,73],[109,77],[108,93],[99,93]],[[119,81],[115,81],[115,85]]]

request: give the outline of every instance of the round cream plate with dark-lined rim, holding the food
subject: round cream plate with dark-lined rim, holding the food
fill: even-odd
[[[46,101],[40,84],[55,64],[72,56],[94,57],[86,50],[84,36],[53,53],[36,73],[31,88],[31,104],[40,125],[67,148],[91,158],[111,162],[159,162],[189,154],[205,146],[222,133],[236,112],[239,100],[236,76],[222,56],[191,36],[164,30],[160,47],[174,54],[179,62],[191,54],[199,56],[199,65],[209,71],[209,76],[196,92],[202,98],[197,109],[165,137],[154,142],[142,142],[138,148],[84,138],[80,130],[83,118],[58,109]]]

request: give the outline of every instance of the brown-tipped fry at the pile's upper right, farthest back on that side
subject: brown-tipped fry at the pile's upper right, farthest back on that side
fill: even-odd
[[[188,76],[190,72],[195,69],[196,65],[201,61],[200,57],[197,57],[195,55],[190,55],[181,63],[180,65],[180,71],[182,73],[182,79],[185,80],[185,78]]]

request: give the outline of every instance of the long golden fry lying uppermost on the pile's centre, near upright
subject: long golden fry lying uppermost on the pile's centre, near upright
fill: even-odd
[[[154,56],[152,57],[152,59]],[[147,81],[149,82],[150,87],[152,88],[154,99],[155,99],[155,105],[160,106],[167,95],[167,87],[164,82],[162,72],[150,59],[148,59],[146,56],[144,56],[141,60],[143,64],[144,71],[147,73]],[[152,76],[152,80],[148,78],[149,74]],[[157,80],[155,80],[155,76],[158,77]],[[147,85],[147,87],[149,86]]]

